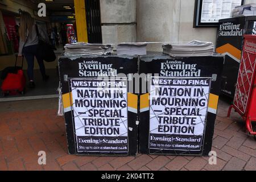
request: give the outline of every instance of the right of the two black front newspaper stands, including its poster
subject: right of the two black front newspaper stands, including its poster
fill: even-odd
[[[139,100],[142,154],[208,155],[223,63],[223,56],[140,57],[147,78]]]

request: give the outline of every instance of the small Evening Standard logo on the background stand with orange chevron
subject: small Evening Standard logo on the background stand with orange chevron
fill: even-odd
[[[233,24],[231,22],[220,24],[219,36],[242,36],[243,29],[241,24]]]

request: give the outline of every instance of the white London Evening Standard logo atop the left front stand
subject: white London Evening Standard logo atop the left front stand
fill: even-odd
[[[101,64],[98,61],[83,61],[79,63],[80,77],[115,77],[117,69],[112,68],[113,64]]]

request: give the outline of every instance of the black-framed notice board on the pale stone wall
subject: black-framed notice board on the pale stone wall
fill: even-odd
[[[244,0],[196,0],[193,27],[217,27],[219,19],[231,18],[236,6]]]

